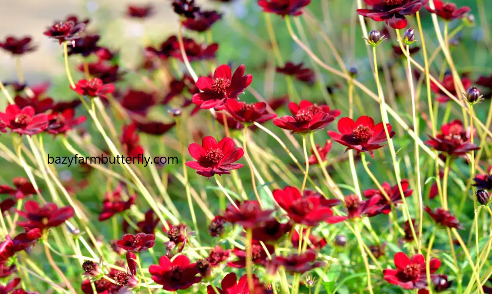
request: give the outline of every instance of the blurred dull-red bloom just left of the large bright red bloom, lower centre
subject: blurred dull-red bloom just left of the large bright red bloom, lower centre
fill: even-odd
[[[224,218],[230,223],[253,228],[258,223],[269,220],[273,211],[273,209],[263,210],[256,200],[246,200],[237,202],[236,205],[227,205]]]

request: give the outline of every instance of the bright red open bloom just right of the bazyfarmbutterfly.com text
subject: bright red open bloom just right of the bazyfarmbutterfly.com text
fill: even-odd
[[[225,137],[220,142],[206,136],[201,141],[201,146],[192,143],[188,146],[190,155],[197,161],[188,161],[186,165],[197,170],[197,174],[207,178],[213,175],[230,174],[230,170],[243,167],[240,163],[234,163],[243,157],[243,149],[236,148],[231,138]]]

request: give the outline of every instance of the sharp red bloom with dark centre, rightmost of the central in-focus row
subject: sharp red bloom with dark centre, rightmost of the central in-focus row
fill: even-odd
[[[390,138],[395,135],[391,130],[391,124],[386,125]],[[347,146],[346,150],[354,149],[357,153],[369,152],[374,157],[373,150],[379,149],[387,141],[383,122],[374,124],[374,119],[369,116],[361,116],[356,121],[349,117],[342,117],[338,121],[338,131],[328,131],[328,135],[338,143]]]

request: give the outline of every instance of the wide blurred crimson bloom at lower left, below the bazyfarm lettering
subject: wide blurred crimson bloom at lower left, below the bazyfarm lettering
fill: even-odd
[[[29,200],[24,204],[24,210],[17,212],[26,220],[17,222],[17,225],[29,230],[39,229],[42,231],[56,227],[74,216],[74,208],[72,206],[58,208],[55,203],[46,203],[44,206],[39,206],[33,200]]]

